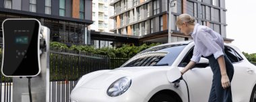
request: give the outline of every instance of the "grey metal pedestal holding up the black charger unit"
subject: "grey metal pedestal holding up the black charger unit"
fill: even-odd
[[[31,79],[31,93],[33,102],[48,102],[50,93],[49,63],[50,63],[50,30],[44,26],[40,28],[40,34],[44,38],[46,48],[41,49],[41,72]],[[28,63],[29,64],[29,63]],[[13,77],[13,102],[29,102],[28,79],[26,77]]]

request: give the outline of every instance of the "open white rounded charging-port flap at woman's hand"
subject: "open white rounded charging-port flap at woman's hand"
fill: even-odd
[[[181,71],[177,67],[172,67],[167,71],[167,79],[170,83],[177,81],[181,78]]]

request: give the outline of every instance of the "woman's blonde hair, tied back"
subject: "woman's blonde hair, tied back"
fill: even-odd
[[[184,22],[189,23],[190,25],[195,25],[195,17],[192,17],[187,13],[183,13],[177,18],[176,25],[181,25]]]

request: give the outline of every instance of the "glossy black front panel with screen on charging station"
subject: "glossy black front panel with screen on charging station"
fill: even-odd
[[[38,30],[34,19],[10,19],[3,22],[3,65],[5,76],[38,74]]]

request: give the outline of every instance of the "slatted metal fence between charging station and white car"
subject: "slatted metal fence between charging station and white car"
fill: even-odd
[[[69,102],[73,85],[79,77],[96,70],[117,68],[128,58],[108,58],[87,52],[51,48],[50,60],[50,101]]]

